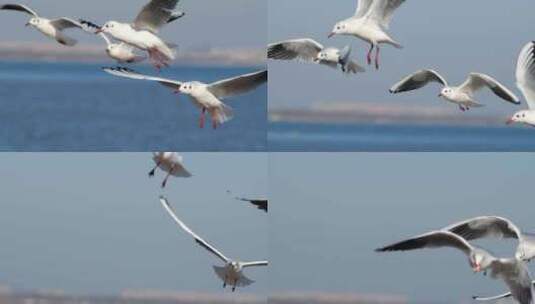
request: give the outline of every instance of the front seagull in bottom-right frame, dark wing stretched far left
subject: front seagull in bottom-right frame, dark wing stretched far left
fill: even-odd
[[[532,304],[532,280],[524,261],[517,258],[496,258],[488,251],[470,245],[466,239],[453,232],[432,231],[376,249],[376,251],[405,251],[438,247],[452,247],[461,250],[468,256],[474,272],[490,270],[492,278],[501,279],[505,282],[515,300],[520,304]]]

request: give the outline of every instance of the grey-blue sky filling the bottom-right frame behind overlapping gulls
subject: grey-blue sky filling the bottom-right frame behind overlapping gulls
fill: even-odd
[[[380,246],[478,215],[535,231],[532,154],[275,153],[270,157],[274,292],[395,294],[469,302],[506,289],[454,249]],[[513,241],[478,242],[511,256]],[[531,267],[533,269],[533,267]]]

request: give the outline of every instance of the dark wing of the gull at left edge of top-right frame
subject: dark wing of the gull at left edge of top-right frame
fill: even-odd
[[[292,39],[271,43],[268,45],[268,58],[277,60],[300,59],[313,61],[318,53],[323,50],[323,45],[313,39]]]

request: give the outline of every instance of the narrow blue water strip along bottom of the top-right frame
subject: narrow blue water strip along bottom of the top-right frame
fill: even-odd
[[[535,128],[271,123],[271,151],[535,151]]]

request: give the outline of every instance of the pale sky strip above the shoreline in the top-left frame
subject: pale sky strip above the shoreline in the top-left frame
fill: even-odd
[[[108,20],[133,21],[148,0],[71,1],[26,0],[43,17],[86,18],[97,23]],[[125,5],[128,3],[128,5]],[[192,1],[183,0],[179,8],[187,13],[183,19],[165,27],[162,36],[184,48],[264,47],[267,28],[267,3],[262,0]],[[43,37],[24,28],[25,16],[2,12],[0,40],[44,41]],[[6,26],[12,24],[13,26]],[[77,35],[81,41],[100,43],[96,37]]]

